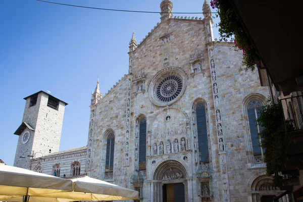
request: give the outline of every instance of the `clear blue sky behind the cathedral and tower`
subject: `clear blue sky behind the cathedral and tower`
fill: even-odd
[[[161,0],[49,0],[121,10],[160,11]],[[174,12],[202,12],[204,0],[173,0]],[[178,16],[178,15],[177,15]],[[179,15],[181,16],[181,15]],[[182,15],[202,17],[202,14]],[[128,44],[147,35],[160,14],[75,8],[35,0],[0,2],[0,159],[13,165],[26,97],[39,90],[69,103],[60,150],[86,146],[91,91],[105,94],[128,72]],[[218,19],[215,20],[218,23]],[[218,31],[214,28],[214,37]]]

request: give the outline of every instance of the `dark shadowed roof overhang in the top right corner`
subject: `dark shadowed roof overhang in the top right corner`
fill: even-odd
[[[303,90],[301,7],[291,2],[230,0],[276,88]]]

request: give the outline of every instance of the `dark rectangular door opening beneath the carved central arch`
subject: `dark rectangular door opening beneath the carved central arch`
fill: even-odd
[[[184,184],[164,184],[163,202],[185,202]]]

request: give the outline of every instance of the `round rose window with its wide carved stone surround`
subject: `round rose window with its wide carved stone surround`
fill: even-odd
[[[151,80],[149,98],[158,106],[171,105],[183,94],[186,82],[186,74],[181,68],[166,68]]]

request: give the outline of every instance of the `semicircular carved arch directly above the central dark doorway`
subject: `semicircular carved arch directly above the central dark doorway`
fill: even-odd
[[[177,180],[187,177],[185,167],[175,160],[162,162],[154,172],[154,180]]]

